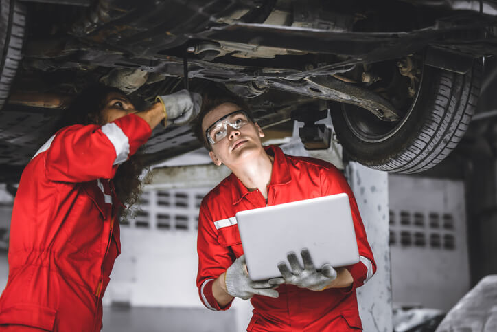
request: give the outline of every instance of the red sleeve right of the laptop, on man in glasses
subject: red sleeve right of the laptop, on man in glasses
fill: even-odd
[[[372,273],[376,272],[376,263],[374,261],[373,252],[367,241],[366,230],[362,219],[360,217],[359,208],[357,206],[356,198],[354,197],[354,192],[352,192],[347,180],[340,171],[334,166],[330,168],[323,168],[320,173],[321,177],[321,190],[322,195],[336,195],[345,192],[349,196],[350,209],[352,212],[352,219],[354,221],[354,231],[356,232],[357,247],[359,250],[359,255],[367,258],[371,261]],[[345,292],[350,292],[360,287],[364,284],[367,276],[367,267],[362,262],[358,262],[354,265],[349,265],[345,267],[354,282],[351,287],[343,289]]]

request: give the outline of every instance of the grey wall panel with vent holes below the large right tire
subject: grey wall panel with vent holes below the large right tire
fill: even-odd
[[[389,176],[393,302],[448,310],[470,289],[463,181]]]

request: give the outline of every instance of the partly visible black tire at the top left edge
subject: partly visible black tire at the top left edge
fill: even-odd
[[[14,0],[0,0],[0,109],[21,63],[25,31],[25,6]]]

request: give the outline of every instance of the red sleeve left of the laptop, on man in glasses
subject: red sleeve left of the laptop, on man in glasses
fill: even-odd
[[[214,220],[210,217],[208,208],[203,201],[198,216],[198,295],[205,307],[219,311],[229,309],[233,301],[229,302],[226,307],[220,307],[212,295],[212,284],[233,263],[231,258],[233,254],[227,247],[219,244],[213,222]]]

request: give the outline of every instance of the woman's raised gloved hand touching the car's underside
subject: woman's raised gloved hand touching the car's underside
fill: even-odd
[[[156,102],[161,102],[166,114],[163,126],[167,124],[187,124],[200,112],[202,96],[185,89],[165,96],[157,96]]]

